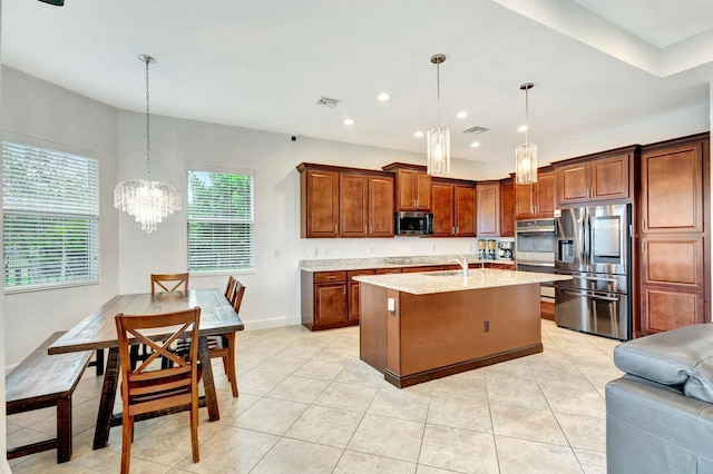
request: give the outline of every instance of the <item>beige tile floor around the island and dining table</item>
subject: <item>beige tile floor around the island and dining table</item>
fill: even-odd
[[[187,414],[138,423],[133,473],[605,473],[604,386],[614,340],[543,320],[545,352],[397,389],[359,359],[359,328],[302,326],[237,337],[233,398],[215,362],[221,421],[202,409],[201,462]],[[115,473],[121,428],[92,451],[101,379],[75,393],[74,456],[13,460],[14,473]],[[8,445],[52,434],[53,409],[8,417]]]

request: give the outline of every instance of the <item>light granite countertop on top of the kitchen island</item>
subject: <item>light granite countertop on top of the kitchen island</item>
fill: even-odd
[[[492,261],[492,260],[490,260]],[[362,275],[356,282],[368,283],[413,295],[463,292],[467,289],[494,288],[498,286],[529,285],[572,279],[568,275],[539,274],[533,271],[496,270],[471,268],[463,279],[462,270],[423,271],[414,274]]]

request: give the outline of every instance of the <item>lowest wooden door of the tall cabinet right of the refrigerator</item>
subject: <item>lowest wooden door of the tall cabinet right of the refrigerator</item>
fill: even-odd
[[[704,323],[704,292],[642,285],[644,335]]]

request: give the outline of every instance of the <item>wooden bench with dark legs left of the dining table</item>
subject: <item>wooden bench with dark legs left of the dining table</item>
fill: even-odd
[[[49,355],[47,348],[66,332],[52,334],[7,376],[7,414],[57,406],[57,437],[8,450],[8,460],[57,448],[57,462],[71,458],[71,395],[91,350]]]

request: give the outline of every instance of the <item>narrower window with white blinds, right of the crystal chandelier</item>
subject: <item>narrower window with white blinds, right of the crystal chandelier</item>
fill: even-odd
[[[188,271],[252,270],[253,174],[188,171]]]

